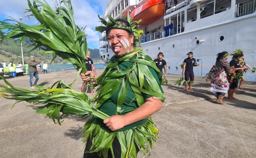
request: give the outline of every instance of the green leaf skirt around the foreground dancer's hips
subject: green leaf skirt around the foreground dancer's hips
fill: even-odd
[[[135,128],[108,133],[103,130],[94,116],[87,116],[87,123],[84,125],[81,136],[86,146],[87,140],[92,141],[89,153],[97,152],[99,156],[108,158],[108,150],[113,155],[112,143],[115,137],[118,138],[121,145],[121,158],[137,158],[136,146],[143,155],[150,155],[154,148],[154,142],[157,142],[159,131],[151,117],[148,121]],[[114,156],[113,156],[114,158]]]

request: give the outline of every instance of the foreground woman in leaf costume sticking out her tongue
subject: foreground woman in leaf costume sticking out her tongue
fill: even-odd
[[[108,17],[108,23],[99,17],[105,26],[95,30],[106,31],[115,55],[96,79],[99,88],[92,102],[110,117],[88,119],[83,130],[84,158],[136,158],[139,150],[150,154],[157,141],[159,132],[150,116],[164,101],[159,83],[162,74],[137,47],[142,32],[135,27],[140,21],[131,22],[129,15],[126,20]],[[87,82],[88,78],[83,80]]]

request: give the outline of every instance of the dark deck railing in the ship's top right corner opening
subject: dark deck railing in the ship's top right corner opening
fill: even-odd
[[[236,17],[251,14],[255,11],[255,0],[247,4],[236,4]]]

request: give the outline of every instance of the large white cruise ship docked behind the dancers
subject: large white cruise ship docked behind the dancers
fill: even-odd
[[[107,0],[104,17],[118,18],[129,12],[142,19],[141,46],[152,59],[162,52],[167,73],[180,74],[180,64],[192,51],[200,66],[195,76],[205,76],[219,52],[242,49],[245,62],[256,67],[256,0]],[[113,51],[105,32],[99,35],[99,51],[108,62]],[[232,59],[229,57],[228,61]],[[256,82],[256,73],[244,73]]]

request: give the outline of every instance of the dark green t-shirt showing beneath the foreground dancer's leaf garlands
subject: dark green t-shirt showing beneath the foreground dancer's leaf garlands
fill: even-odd
[[[132,59],[136,58],[136,55],[131,57]],[[122,62],[119,62],[118,63],[118,68],[120,71],[126,71],[131,65],[134,65],[134,62],[132,61],[122,61]],[[150,72],[153,74],[154,78],[157,80],[158,82],[158,85],[159,85],[159,88],[160,90],[162,91],[163,93],[163,89],[162,87],[160,86],[160,82],[159,82],[159,79],[158,79],[158,76],[157,76],[157,73],[154,71],[153,68],[151,67],[148,67]],[[120,88],[120,87],[119,87]],[[100,111],[102,111],[103,113],[109,115],[109,116],[113,116],[116,114],[116,102],[117,102],[117,98],[118,98],[118,93],[119,93],[119,88],[116,90],[116,92],[113,94],[113,96],[111,96],[111,98],[109,98],[104,104],[102,104],[101,107],[99,107],[98,109]],[[148,95],[148,94],[143,94],[144,98],[150,98],[151,95]],[[133,90],[131,89],[131,86],[128,85],[128,92],[127,92],[127,96],[123,96],[125,97],[125,102],[124,104],[122,105],[122,110],[124,110],[122,113],[120,113],[120,115],[125,115],[127,112],[126,111],[129,111],[129,110],[134,110],[136,109],[138,106],[137,102],[136,102],[136,99],[135,99],[135,94],[133,92]],[[121,111],[122,111],[121,110]],[[131,128],[134,128],[134,127],[137,127],[137,126],[140,126],[142,124],[145,124],[146,122],[148,121],[148,118],[145,118],[144,120],[141,120],[141,121],[137,121],[133,124],[129,124],[117,131],[123,131],[123,130],[128,130],[128,129],[131,129]],[[107,131],[108,133],[111,133],[112,131],[103,123],[103,120],[98,118],[98,122],[99,122],[99,125],[105,130]]]

